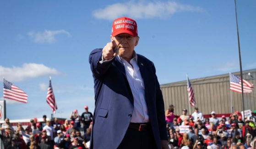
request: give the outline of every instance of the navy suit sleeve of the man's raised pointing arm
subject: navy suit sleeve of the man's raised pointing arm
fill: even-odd
[[[113,59],[103,63],[100,63],[100,61],[102,61],[102,49],[93,50],[89,56],[89,63],[91,65],[93,76],[96,78],[102,77],[105,72],[107,72]]]

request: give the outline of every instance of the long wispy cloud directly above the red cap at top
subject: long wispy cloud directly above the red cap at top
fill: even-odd
[[[176,12],[199,11],[204,9],[198,6],[183,5],[174,1],[168,2],[134,2],[116,3],[107,5],[103,9],[93,11],[93,16],[97,19],[114,20],[121,16],[128,16],[134,19],[166,18]]]

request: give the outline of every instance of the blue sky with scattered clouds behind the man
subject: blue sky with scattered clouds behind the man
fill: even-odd
[[[243,69],[254,69],[256,2],[237,6]],[[160,84],[239,71],[234,0],[1,0],[0,77],[28,94],[27,104],[7,101],[7,117],[50,116],[49,76],[56,117],[85,105],[93,112],[88,56],[121,16],[137,21],[135,50],[154,62]]]

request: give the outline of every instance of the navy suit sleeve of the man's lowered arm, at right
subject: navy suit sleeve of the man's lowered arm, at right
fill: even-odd
[[[153,64],[153,62],[152,62]],[[161,140],[168,140],[167,130],[166,130],[166,121],[165,121],[165,112],[164,112],[164,103],[163,103],[163,94],[160,89],[158,78],[156,75],[156,69],[153,64],[153,71],[156,79],[156,107],[157,107],[157,116],[158,116],[158,126],[160,132]]]

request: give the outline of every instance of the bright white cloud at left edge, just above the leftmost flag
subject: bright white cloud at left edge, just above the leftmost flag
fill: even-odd
[[[44,64],[24,63],[22,67],[0,66],[0,78],[5,77],[8,81],[22,81],[27,78],[58,75],[54,68],[44,66]]]

